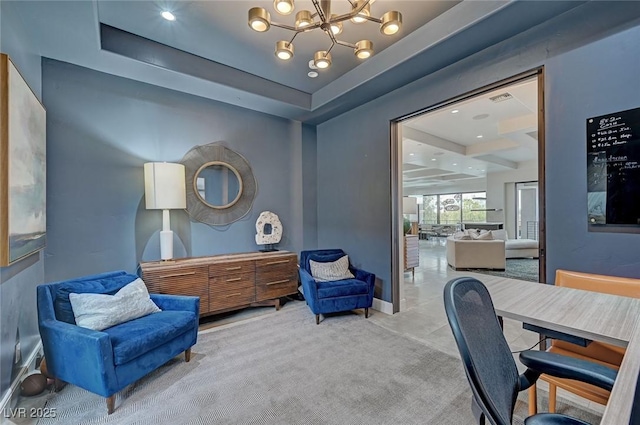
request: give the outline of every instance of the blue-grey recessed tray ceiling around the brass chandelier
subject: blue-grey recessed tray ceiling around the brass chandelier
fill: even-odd
[[[403,14],[399,36],[382,36],[372,22],[346,22],[340,38],[371,38],[376,53],[359,62],[351,49],[336,46],[333,66],[316,79],[307,77],[308,61],[313,51],[326,48],[325,34],[299,35],[294,60],[283,63],[273,50],[287,31],[273,27],[256,33],[249,28],[248,10],[261,5],[272,11],[271,0],[11,3],[40,56],[318,124],[584,1],[376,0],[374,16],[389,9]],[[298,10],[311,9],[310,0],[296,3]],[[347,0],[333,3],[336,11],[348,8]],[[173,10],[177,20],[163,20],[164,9]],[[291,24],[294,18],[272,13],[272,19]],[[122,31],[105,40],[101,24]]]

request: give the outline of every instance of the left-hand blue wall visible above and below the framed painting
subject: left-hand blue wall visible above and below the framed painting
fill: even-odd
[[[0,2],[0,51],[9,55],[27,84],[41,98],[40,56],[13,2]],[[23,363],[40,342],[35,313],[36,286],[43,281],[42,253],[0,268],[0,399],[11,385],[16,330],[20,331]]]

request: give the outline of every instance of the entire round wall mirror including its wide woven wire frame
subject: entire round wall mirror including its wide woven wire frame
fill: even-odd
[[[249,162],[221,142],[196,146],[182,158],[187,212],[194,220],[224,226],[246,216],[258,184]]]

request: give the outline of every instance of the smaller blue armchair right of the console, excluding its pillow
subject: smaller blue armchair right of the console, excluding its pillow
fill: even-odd
[[[320,315],[339,311],[364,308],[364,316],[369,317],[369,307],[373,303],[373,288],[376,276],[373,273],[349,265],[353,279],[318,282],[311,276],[309,260],[320,263],[336,261],[346,255],[341,249],[320,249],[300,253],[300,281],[304,298],[320,324]]]

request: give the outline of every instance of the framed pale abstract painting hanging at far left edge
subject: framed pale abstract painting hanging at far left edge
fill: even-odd
[[[46,111],[0,54],[0,266],[44,248]]]

